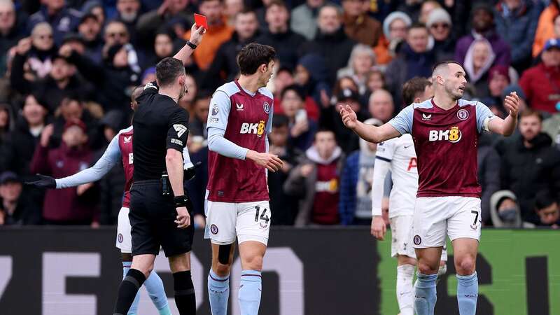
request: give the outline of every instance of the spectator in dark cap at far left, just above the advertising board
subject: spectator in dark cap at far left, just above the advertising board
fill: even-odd
[[[0,174],[0,225],[38,225],[41,209],[22,195],[22,182],[13,172]]]

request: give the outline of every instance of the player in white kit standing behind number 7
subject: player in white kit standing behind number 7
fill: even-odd
[[[421,103],[433,97],[431,83],[426,78],[412,78],[402,86],[405,104]],[[393,188],[389,198],[391,221],[391,257],[397,258],[397,302],[400,315],[414,315],[414,289],[412,279],[416,267],[416,254],[412,246],[412,215],[418,190],[416,152],[410,134],[389,139],[377,145],[372,183],[372,235],[383,240],[386,226],[381,217],[381,200],[384,182],[391,172]],[[439,274],[447,271],[447,251],[442,251]]]

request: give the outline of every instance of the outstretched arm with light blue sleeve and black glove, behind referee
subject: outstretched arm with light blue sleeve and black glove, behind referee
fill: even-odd
[[[102,157],[95,162],[95,164],[83,171],[80,171],[71,176],[66,176],[62,179],[53,179],[50,176],[38,174],[36,181],[31,181],[28,184],[42,188],[69,188],[83,185],[85,183],[92,183],[99,181],[105,174],[115,166],[120,160],[120,148],[118,146],[118,135],[113,137],[109,146],[107,146]]]

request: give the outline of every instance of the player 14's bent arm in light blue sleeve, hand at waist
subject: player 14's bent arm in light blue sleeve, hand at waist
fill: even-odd
[[[276,155],[249,150],[225,139],[230,108],[228,94],[221,90],[216,91],[210,101],[210,113],[207,120],[208,149],[228,158],[253,160],[257,165],[265,167],[271,172],[276,172],[282,166],[282,160]]]

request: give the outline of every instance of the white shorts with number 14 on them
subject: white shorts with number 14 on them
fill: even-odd
[[[204,238],[218,245],[227,245],[239,238],[244,241],[260,241],[268,244],[270,230],[270,206],[261,202],[211,202],[206,204],[207,224]]]

